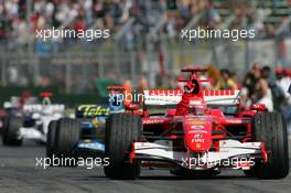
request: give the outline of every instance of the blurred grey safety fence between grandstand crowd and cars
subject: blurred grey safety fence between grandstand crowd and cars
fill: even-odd
[[[58,51],[48,55],[34,52],[0,52],[0,83],[2,86],[57,86],[65,93],[82,94],[96,89],[100,79],[117,84],[131,79],[138,86],[140,75],[150,87],[171,86],[182,66],[214,64],[228,68],[242,78],[255,62],[271,67],[291,66],[291,40],[226,41],[207,40],[172,43],[159,42],[146,50],[123,50],[112,45],[108,50],[88,50],[79,45],[74,51]],[[90,45],[93,46],[93,45]]]

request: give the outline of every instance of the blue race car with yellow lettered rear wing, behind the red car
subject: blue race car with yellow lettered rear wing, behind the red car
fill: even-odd
[[[122,87],[109,88],[121,94]],[[80,105],[75,118],[62,118],[50,122],[46,157],[75,158],[101,157],[105,152],[106,118],[125,111],[122,95],[115,94],[109,105]]]

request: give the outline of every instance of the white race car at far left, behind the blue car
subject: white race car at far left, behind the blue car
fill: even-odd
[[[32,97],[20,106],[19,98],[14,97],[13,103],[4,104],[7,110],[2,132],[4,146],[21,146],[23,140],[46,142],[48,124],[65,116],[65,106],[51,104],[51,93],[42,93],[41,97],[42,103]]]

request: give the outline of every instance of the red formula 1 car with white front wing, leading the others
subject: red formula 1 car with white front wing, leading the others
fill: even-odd
[[[285,122],[263,105],[240,107],[239,90],[203,90],[187,67],[184,90],[144,90],[143,109],[112,114],[106,122],[105,174],[136,179],[141,167],[170,167],[179,175],[214,175],[223,168],[280,179],[289,173]],[[166,108],[150,115],[148,108]],[[171,108],[172,107],[172,108]]]

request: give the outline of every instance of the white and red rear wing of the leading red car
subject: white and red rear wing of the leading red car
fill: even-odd
[[[144,90],[144,105],[177,105],[182,95],[182,90]],[[240,99],[239,90],[204,90],[203,96],[206,105],[209,106],[237,106]]]

